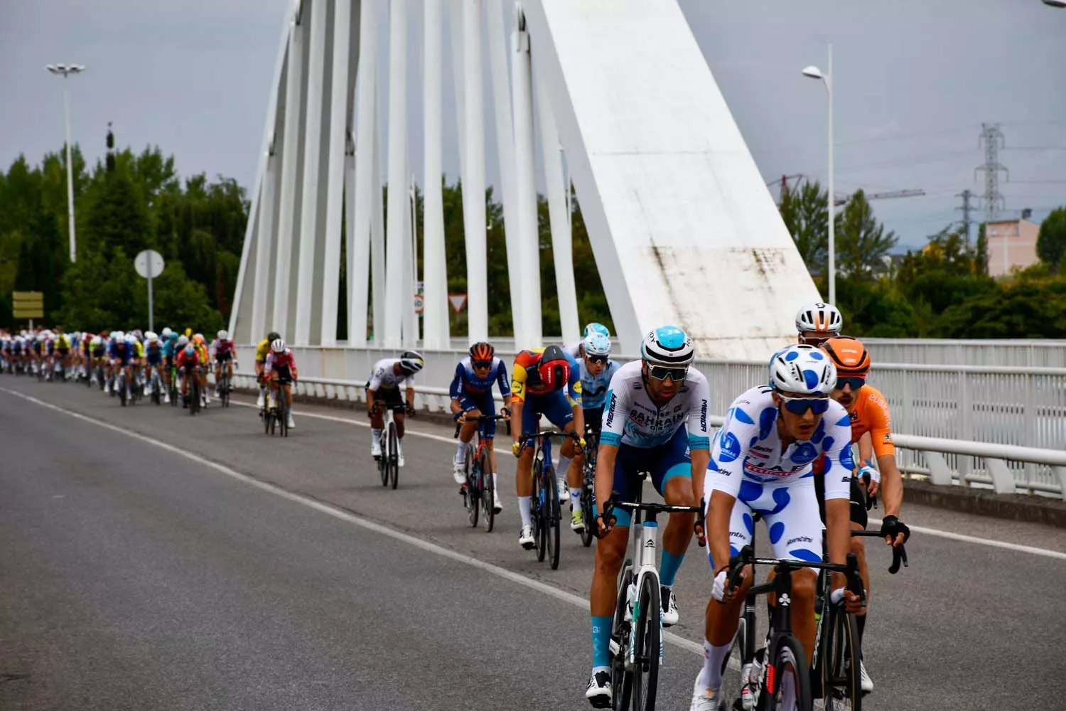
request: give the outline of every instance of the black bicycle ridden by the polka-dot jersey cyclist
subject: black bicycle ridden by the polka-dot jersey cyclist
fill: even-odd
[[[741,616],[741,626],[738,628],[733,639],[733,649],[741,652],[741,664],[744,672],[741,675],[742,682],[747,685],[750,693],[749,698],[738,694],[733,697],[728,692],[724,695],[725,704],[729,704],[730,698],[736,698],[732,708],[755,708],[758,711],[773,711],[781,705],[786,686],[791,682],[792,692],[795,696],[798,711],[810,711],[812,706],[811,673],[807,665],[807,655],[803,645],[792,633],[792,572],[803,568],[819,568],[824,572],[842,572],[847,578],[847,589],[858,595],[860,599],[866,599],[862,579],[859,576],[858,559],[854,553],[849,553],[846,564],[814,563],[811,561],[791,561],[782,559],[756,558],[752,546],[744,546],[740,553],[729,562],[730,570],[728,577],[728,589],[731,592],[740,584],[740,576],[745,566],[752,565],[752,575],[755,575],[755,565],[769,565],[774,568],[775,577],[770,582],[761,585],[753,585],[745,598],[744,610]],[[755,652],[755,597],[759,595],[772,594],[776,597],[777,604],[773,607],[770,618],[770,629],[766,634],[766,644],[760,650],[761,659]],[[835,607],[835,605],[828,605]],[[841,618],[850,621],[854,631],[854,617],[845,616]],[[851,642],[852,649],[859,652],[858,635],[855,634]],[[818,644],[815,643],[815,648]],[[759,669],[757,674],[752,674],[752,669]],[[857,670],[857,665],[856,665]],[[757,678],[752,679],[750,676]],[[858,695],[861,697],[861,694]]]

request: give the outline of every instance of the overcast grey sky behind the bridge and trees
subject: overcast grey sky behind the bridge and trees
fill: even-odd
[[[70,80],[74,141],[90,160],[102,156],[111,120],[119,145],[158,144],[183,176],[251,185],[289,0],[3,4],[0,165],[62,147],[62,80],[44,65],[76,62],[88,70]],[[1004,215],[1030,207],[1038,221],[1066,204],[1066,10],[1039,0],[680,4],[768,181],[825,180],[825,93],[800,69],[825,69],[833,42],[837,190],[925,190],[874,203],[901,246],[924,244],[958,220],[964,189],[983,192],[973,171],[984,162],[982,123],[1000,122],[1006,140]],[[411,15],[414,32],[420,13]],[[417,97],[410,106],[419,110]],[[409,123],[420,126],[421,114]],[[445,134],[454,134],[453,110]],[[417,145],[413,151],[419,165]],[[445,167],[457,172],[450,139]]]

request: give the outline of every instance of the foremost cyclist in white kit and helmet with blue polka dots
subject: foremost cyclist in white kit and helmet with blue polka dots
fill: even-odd
[[[714,579],[707,602],[704,666],[693,688],[691,708],[696,711],[718,711],[723,663],[752,584],[749,568],[729,594],[729,558],[750,543],[752,514],[765,519],[775,558],[822,560],[811,464],[823,454],[829,560],[843,563],[850,547],[851,425],[843,406],[829,398],[837,369],[813,345],[790,345],[771,360],[770,382],[742,393],[726,411],[705,481],[696,487],[696,494],[707,498],[706,538]],[[792,621],[808,650],[814,648],[815,581],[812,568],[792,573]],[[859,598],[843,589],[844,582],[842,575],[834,573],[831,599],[844,600],[849,612],[855,612]]]

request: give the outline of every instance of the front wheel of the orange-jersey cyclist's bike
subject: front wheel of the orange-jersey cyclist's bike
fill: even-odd
[[[827,711],[860,711],[862,678],[859,669],[859,632],[855,616],[829,603],[819,660],[821,686]]]

